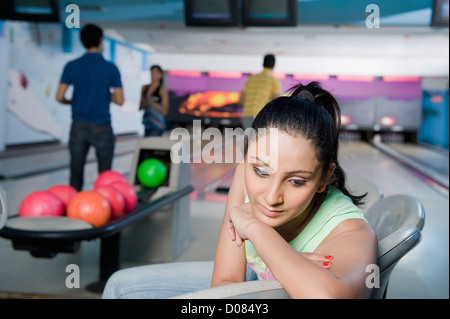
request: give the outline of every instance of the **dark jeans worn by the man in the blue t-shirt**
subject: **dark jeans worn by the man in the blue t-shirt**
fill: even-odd
[[[110,123],[99,124],[74,120],[70,129],[70,185],[83,188],[84,165],[89,148],[95,148],[98,172],[110,170],[114,157],[115,137]]]

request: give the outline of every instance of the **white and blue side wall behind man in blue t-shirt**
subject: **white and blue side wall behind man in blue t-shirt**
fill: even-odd
[[[7,81],[6,94],[1,94],[4,106],[0,109],[3,144],[67,143],[70,106],[56,102],[55,95],[64,65],[85,52],[79,32],[63,35],[67,29],[58,23],[0,23],[1,74],[2,81]],[[111,53],[115,55],[126,98],[120,109],[115,104],[111,106],[113,127],[117,134],[139,131],[136,105],[142,76],[148,76],[142,71],[142,53],[120,44],[115,44],[113,51],[108,39],[104,47],[107,60],[111,60]]]

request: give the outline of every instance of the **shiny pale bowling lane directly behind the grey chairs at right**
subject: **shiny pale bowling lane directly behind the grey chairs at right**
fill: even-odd
[[[384,196],[409,194],[425,209],[422,241],[394,269],[388,298],[448,298],[449,200],[410,168],[364,142],[341,142],[339,161],[349,174],[369,179]]]

